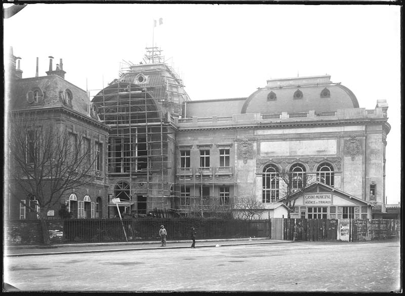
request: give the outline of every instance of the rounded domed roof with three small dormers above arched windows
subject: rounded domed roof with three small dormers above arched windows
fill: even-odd
[[[240,113],[279,114],[358,108],[356,96],[329,75],[267,80],[248,97]]]

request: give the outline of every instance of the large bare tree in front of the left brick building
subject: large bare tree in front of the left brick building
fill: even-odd
[[[27,112],[11,114],[12,169],[8,175],[11,196],[36,213],[41,221],[43,243],[49,244],[48,210],[59,205],[66,194],[92,181],[96,157],[89,140],[65,126],[42,120],[41,116]],[[22,202],[27,196],[35,202]]]

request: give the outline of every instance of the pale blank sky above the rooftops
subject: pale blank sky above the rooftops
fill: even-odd
[[[248,97],[269,78],[323,74],[361,108],[387,100],[386,196],[400,201],[399,6],[29,4],[4,19],[4,47],[21,57],[23,78],[35,75],[36,57],[39,76],[48,56],[54,68],[62,58],[65,79],[91,95],[152,42],[191,100]]]

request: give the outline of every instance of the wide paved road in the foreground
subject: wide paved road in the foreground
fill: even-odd
[[[399,290],[399,242],[296,242],[9,257],[24,291]]]

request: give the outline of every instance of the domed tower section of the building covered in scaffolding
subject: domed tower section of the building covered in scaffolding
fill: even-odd
[[[146,48],[144,63],[127,63],[120,76],[92,99],[94,112],[112,131],[108,140],[110,216],[148,214],[174,203],[174,118],[189,100],[183,81]],[[112,207],[111,207],[112,206]]]

